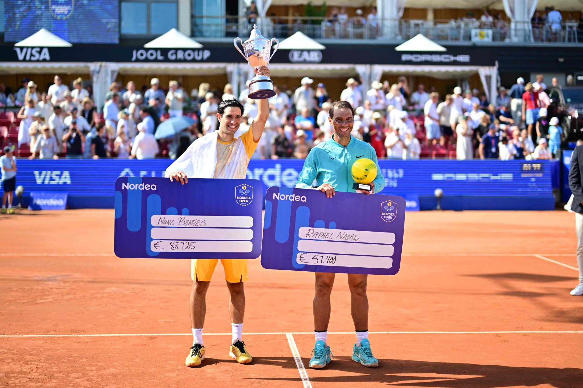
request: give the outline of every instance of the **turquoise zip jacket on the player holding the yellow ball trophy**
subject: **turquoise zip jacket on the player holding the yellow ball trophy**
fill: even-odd
[[[350,136],[350,143],[346,147],[334,140],[334,136],[312,148],[305,158],[304,168],[297,179],[297,188],[314,188],[314,179],[318,186],[330,184],[336,191],[350,191],[352,188],[352,165],[360,158],[371,159],[377,165],[377,177],[374,179],[374,193],[385,187],[385,178],[378,166],[377,154],[374,148],[364,141]]]

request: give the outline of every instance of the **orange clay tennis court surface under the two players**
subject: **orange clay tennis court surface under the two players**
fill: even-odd
[[[569,295],[578,273],[565,211],[407,213],[401,271],[369,277],[369,338],[380,361],[372,369],[350,359],[345,275],[332,293],[335,359],[310,369],[313,274],[250,263],[243,340],[253,362],[240,365],[228,357],[228,293],[217,268],[206,359],[187,368],[189,261],[115,257],[113,210],[1,217],[0,386],[583,385],[583,298]]]

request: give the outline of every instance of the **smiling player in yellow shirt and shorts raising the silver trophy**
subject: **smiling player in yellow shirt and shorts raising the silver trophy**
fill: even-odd
[[[258,75],[270,76],[268,67],[264,66],[255,70]],[[261,138],[265,122],[269,116],[269,105],[267,99],[257,100],[258,113],[253,119],[251,128],[241,135],[234,137],[239,129],[243,117],[244,108],[236,99],[227,99],[219,104],[217,119],[219,119],[219,129],[216,134],[206,134],[203,138],[192,143],[191,147],[198,145],[199,141],[207,136],[216,136],[216,165],[213,178],[245,179],[247,165],[259,139]],[[211,137],[212,139],[212,137]],[[205,143],[200,143],[205,144]],[[189,149],[191,148],[189,147]],[[211,143],[211,147],[215,147]],[[201,165],[200,160],[188,160],[188,151],[184,156],[178,158],[173,165],[166,170],[166,176],[171,181],[176,180],[181,184],[187,184],[189,177],[198,176],[197,166]],[[205,152],[205,151],[203,151]],[[209,152],[209,155],[212,154]],[[197,155],[201,155],[198,151]],[[198,157],[198,159],[201,159]],[[211,158],[209,158],[211,159]],[[180,170],[178,170],[180,169]],[[192,260],[192,290],[190,293],[190,319],[192,325],[192,335],[194,341],[191,350],[186,358],[187,366],[201,365],[205,358],[205,347],[202,340],[202,328],[205,323],[206,314],[206,291],[209,288],[210,278],[213,275],[218,259],[193,259]],[[247,260],[243,259],[221,259],[223,265],[227,288],[229,289],[229,315],[231,317],[231,328],[233,337],[229,356],[240,364],[251,362],[251,355],[247,351],[245,344],[241,341],[243,332],[243,316],[245,313],[245,294],[243,282],[248,280]]]

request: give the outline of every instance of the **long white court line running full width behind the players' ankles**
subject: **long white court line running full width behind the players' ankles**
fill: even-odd
[[[313,335],[314,332],[272,332],[272,333],[244,333],[245,336],[273,336],[281,334]],[[354,334],[354,332],[328,332],[328,334]],[[498,332],[368,332],[368,334],[583,334],[583,331],[545,331],[545,330],[517,330]],[[231,336],[232,333],[205,333],[205,336]],[[21,337],[157,337],[157,336],[192,336],[192,333],[156,333],[156,334],[4,334],[0,338]]]

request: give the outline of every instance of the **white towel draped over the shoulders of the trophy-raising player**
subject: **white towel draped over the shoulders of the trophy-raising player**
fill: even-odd
[[[206,134],[192,142],[192,144],[167,169],[165,176],[182,171],[189,178],[213,178],[217,164],[217,131]],[[222,178],[233,179],[237,172],[237,165],[245,157],[245,146],[241,139],[236,138],[233,158],[227,163]]]

